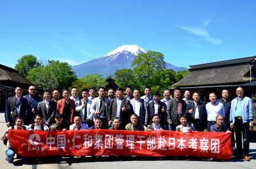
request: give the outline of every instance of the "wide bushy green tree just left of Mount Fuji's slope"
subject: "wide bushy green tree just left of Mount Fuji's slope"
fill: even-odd
[[[27,73],[27,80],[41,89],[68,88],[77,80],[75,72],[68,63],[48,60],[46,65],[39,65]]]

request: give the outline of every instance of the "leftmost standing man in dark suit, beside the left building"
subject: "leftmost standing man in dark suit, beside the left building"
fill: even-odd
[[[17,86],[14,92],[15,96],[9,97],[5,105],[5,122],[7,127],[15,125],[15,118],[24,118],[27,112],[27,101],[22,98],[22,87]]]

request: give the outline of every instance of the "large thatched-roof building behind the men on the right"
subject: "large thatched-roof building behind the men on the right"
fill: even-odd
[[[256,56],[244,57],[213,63],[190,65],[189,74],[173,84],[182,90],[189,89],[192,93],[199,91],[208,100],[209,92],[217,92],[221,96],[222,89],[228,89],[230,97],[235,97],[235,89],[242,86],[247,96],[256,92]]]

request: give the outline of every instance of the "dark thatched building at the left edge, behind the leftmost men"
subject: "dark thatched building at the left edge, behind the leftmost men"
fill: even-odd
[[[22,86],[26,90],[30,85],[31,83],[19,75],[17,70],[0,64],[0,110],[5,109],[5,102],[8,97],[14,95],[16,86]]]

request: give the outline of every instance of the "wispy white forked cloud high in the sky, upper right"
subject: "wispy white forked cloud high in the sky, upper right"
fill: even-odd
[[[185,30],[187,32],[190,32],[193,35],[201,36],[203,39],[205,39],[207,42],[210,42],[211,44],[214,44],[215,46],[219,46],[223,43],[221,39],[214,39],[211,38],[209,32],[206,30],[206,27],[209,25],[211,20],[207,20],[202,24],[202,27],[193,27],[193,26],[179,26],[176,27],[181,28],[182,30]]]

